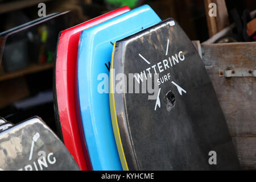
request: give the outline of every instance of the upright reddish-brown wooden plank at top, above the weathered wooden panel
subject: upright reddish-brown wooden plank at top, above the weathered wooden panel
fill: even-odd
[[[209,16],[210,3],[216,4],[217,16]],[[226,9],[225,0],[204,0],[204,6],[209,36],[212,37],[213,35],[217,34],[217,32],[229,25],[228,10]]]

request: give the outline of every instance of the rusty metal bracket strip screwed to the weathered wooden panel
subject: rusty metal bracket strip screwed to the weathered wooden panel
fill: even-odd
[[[220,77],[256,77],[255,69],[237,68],[231,70],[218,70],[218,76]]]

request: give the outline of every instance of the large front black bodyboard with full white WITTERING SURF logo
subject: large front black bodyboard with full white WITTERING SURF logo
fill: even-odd
[[[129,169],[240,169],[203,61],[174,19],[116,42],[112,68],[115,75],[125,73],[127,82],[129,73],[139,73],[143,82],[146,81],[143,71],[160,79],[160,93],[158,90],[154,100],[148,100],[148,95],[152,95],[148,90],[146,93],[114,93],[113,100],[110,97],[121,142],[118,143],[112,115],[115,138],[117,146],[122,146],[125,159],[120,155],[122,150],[119,155]],[[138,74],[134,76],[133,87],[136,77]],[[120,82],[114,79],[113,76],[110,80],[110,88]],[[142,80],[138,80],[141,86]],[[124,87],[126,92],[129,86]],[[217,164],[209,164],[210,151],[216,152]]]

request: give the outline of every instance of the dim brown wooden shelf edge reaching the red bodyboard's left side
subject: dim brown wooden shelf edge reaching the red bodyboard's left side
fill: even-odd
[[[27,68],[22,69],[20,71],[0,74],[0,81],[10,80],[12,78],[24,76],[24,75],[27,75],[27,74],[30,74],[30,73],[44,71],[44,70],[51,69],[51,68],[53,68],[53,63],[31,64]]]

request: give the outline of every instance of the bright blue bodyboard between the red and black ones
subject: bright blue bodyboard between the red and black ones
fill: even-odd
[[[77,102],[94,170],[122,170],[109,106],[113,43],[160,21],[150,6],[143,5],[81,32],[77,58]]]

